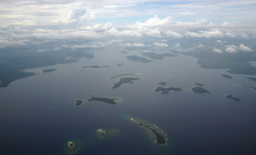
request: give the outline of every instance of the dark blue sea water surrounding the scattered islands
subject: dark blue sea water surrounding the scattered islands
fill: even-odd
[[[122,118],[123,114],[152,122],[169,137],[167,154],[254,154],[256,153],[256,82],[244,75],[221,76],[228,69],[202,69],[197,59],[183,55],[141,63],[124,56],[142,56],[140,51],[121,54],[122,48],[98,50],[93,59],[71,64],[34,68],[40,73],[0,88],[0,154],[58,155],[68,141],[80,139],[86,146],[78,154],[161,154],[146,133]],[[163,51],[155,51],[163,53]],[[122,66],[116,66],[124,63]],[[81,68],[110,65],[109,68]],[[165,66],[162,66],[165,65]],[[51,73],[42,70],[58,69]],[[112,76],[140,73],[132,84],[112,89]],[[256,76],[250,76],[256,77]],[[184,91],[155,92],[157,82]],[[211,94],[192,92],[199,82]],[[75,99],[122,97],[122,103],[89,102],[75,106]],[[232,94],[241,99],[227,99]],[[99,128],[120,129],[121,135],[99,141]],[[166,152],[165,152],[166,153]]]

